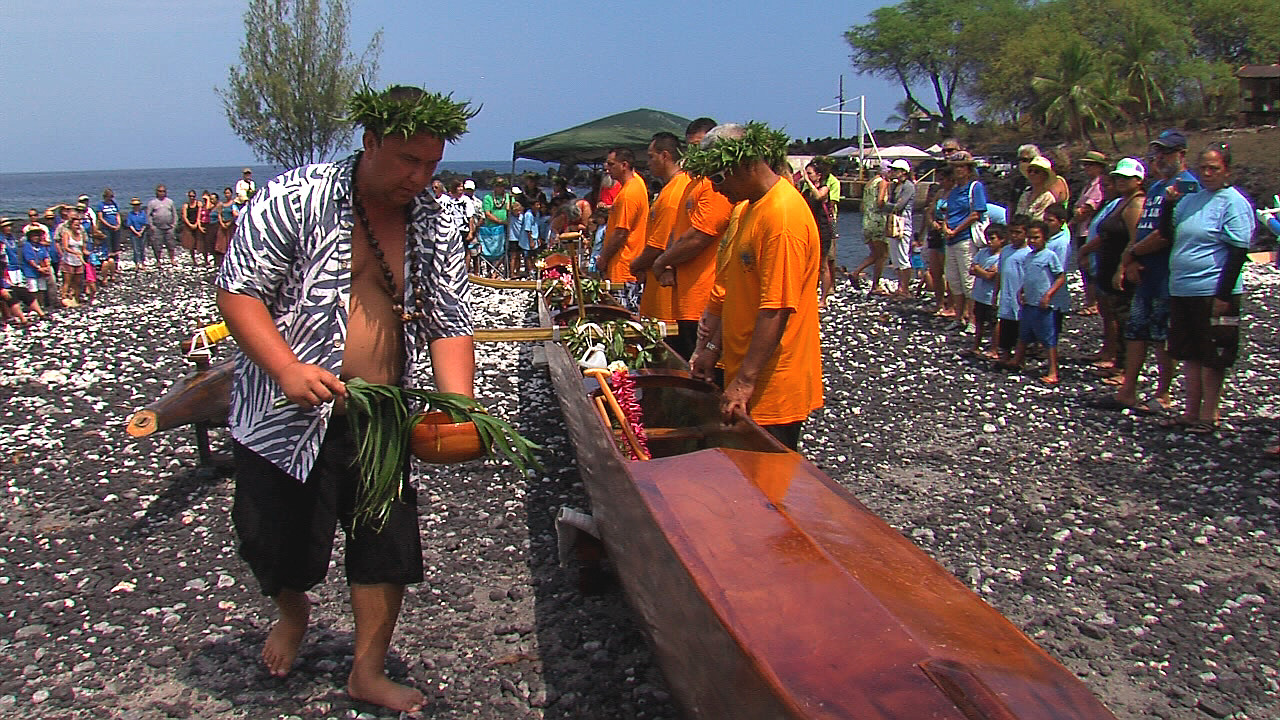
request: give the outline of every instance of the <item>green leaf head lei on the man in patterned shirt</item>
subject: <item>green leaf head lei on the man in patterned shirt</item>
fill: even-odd
[[[454,101],[452,94],[428,92],[404,85],[378,92],[365,85],[347,101],[346,120],[358,123],[379,138],[388,135],[410,138],[428,133],[457,142],[467,132],[467,120],[479,113],[480,108]]]

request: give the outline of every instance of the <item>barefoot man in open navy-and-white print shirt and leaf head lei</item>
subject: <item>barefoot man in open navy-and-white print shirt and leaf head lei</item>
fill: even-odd
[[[243,352],[232,518],[241,556],[279,612],[268,670],[283,676],[297,657],[306,591],[324,579],[340,523],[356,625],[347,691],[412,712],[422,693],[387,678],[385,657],[404,585],[422,580],[416,495],[406,468],[384,525],[352,519],[358,470],[343,380],[410,384],[429,359],[440,391],[474,395],[466,228],[428,184],[475,111],[402,86],[362,91],[351,108],[362,151],[259,191],[218,275],[219,309]],[[292,402],[276,407],[282,395]]]

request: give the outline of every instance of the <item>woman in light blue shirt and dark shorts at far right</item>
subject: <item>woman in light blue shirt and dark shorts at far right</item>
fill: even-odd
[[[1199,155],[1203,190],[1178,202],[1169,258],[1169,354],[1183,361],[1187,407],[1171,420],[1189,432],[1217,428],[1222,378],[1240,345],[1240,270],[1253,240],[1253,208],[1231,187],[1231,150],[1211,145]]]

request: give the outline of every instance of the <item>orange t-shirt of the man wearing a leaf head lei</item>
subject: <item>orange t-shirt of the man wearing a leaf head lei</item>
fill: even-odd
[[[710,311],[721,316],[724,382],[733,382],[742,366],[759,311],[791,310],[748,402],[762,425],[804,420],[822,407],[819,252],[813,213],[787,182],[746,206],[726,247],[727,261],[710,297]]]

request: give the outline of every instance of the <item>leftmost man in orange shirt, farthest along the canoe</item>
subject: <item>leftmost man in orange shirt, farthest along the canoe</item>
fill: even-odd
[[[644,247],[649,223],[649,188],[634,167],[635,154],[626,147],[611,150],[604,159],[604,170],[622,186],[622,191],[609,209],[604,243],[596,261],[596,266],[604,269],[604,279],[613,282],[614,297],[627,310],[635,310],[640,304],[640,284],[631,274],[631,261]]]

